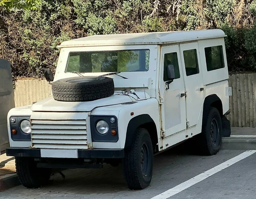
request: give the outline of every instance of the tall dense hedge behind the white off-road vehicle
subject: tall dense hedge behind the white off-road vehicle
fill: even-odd
[[[56,67],[62,41],[93,34],[221,28],[229,71],[256,71],[256,0],[38,0],[37,10],[0,7],[0,57],[13,76]]]

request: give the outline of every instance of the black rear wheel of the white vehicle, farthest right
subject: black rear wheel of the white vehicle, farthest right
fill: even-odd
[[[208,114],[203,119],[201,133],[201,147],[204,155],[215,155],[221,148],[222,124],[217,108],[210,107]]]

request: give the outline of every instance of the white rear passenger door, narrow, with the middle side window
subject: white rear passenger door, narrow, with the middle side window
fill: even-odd
[[[198,43],[180,45],[184,80],[186,88],[186,114],[188,128],[198,123],[199,114],[204,102],[204,83],[200,66]]]

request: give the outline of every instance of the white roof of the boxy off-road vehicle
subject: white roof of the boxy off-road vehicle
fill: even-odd
[[[59,48],[82,46],[106,46],[106,45],[163,45],[181,43],[193,40],[204,40],[225,37],[220,29],[194,30],[194,31],[170,31],[147,32],[127,34],[104,34],[82,37],[79,39],[64,41]]]

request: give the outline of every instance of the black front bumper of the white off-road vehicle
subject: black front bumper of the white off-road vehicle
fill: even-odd
[[[54,150],[54,149],[52,149]],[[77,150],[78,158],[124,158],[124,149],[87,149]],[[38,148],[6,148],[7,156],[15,157],[41,157]]]

